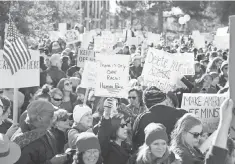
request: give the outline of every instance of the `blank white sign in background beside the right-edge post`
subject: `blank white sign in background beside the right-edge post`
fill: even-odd
[[[218,49],[228,49],[229,48],[229,34],[226,34],[224,36],[215,36],[214,38],[214,45]]]

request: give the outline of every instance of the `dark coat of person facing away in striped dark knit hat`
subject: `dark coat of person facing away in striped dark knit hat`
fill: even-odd
[[[144,129],[149,123],[163,124],[166,127],[168,136],[170,136],[175,123],[185,113],[185,110],[178,110],[165,105],[155,105],[151,107],[149,111],[139,115],[133,126],[132,142],[134,150],[136,151],[143,145],[145,139]]]

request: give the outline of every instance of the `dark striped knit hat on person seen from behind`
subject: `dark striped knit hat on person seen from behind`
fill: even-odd
[[[166,94],[160,91],[160,89],[158,89],[157,87],[151,86],[145,89],[143,94],[143,101],[147,106],[147,108],[150,108],[153,105],[161,103],[164,100],[166,100]]]

